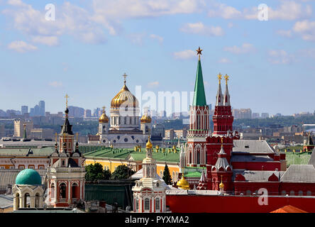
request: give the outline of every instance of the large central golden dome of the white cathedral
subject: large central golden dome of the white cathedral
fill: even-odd
[[[126,86],[123,85],[123,88],[114,96],[114,99],[111,99],[111,108],[119,108],[121,105],[128,107],[138,107],[138,100]]]

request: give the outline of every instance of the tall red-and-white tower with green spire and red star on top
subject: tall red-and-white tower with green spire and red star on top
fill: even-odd
[[[199,47],[194,99],[189,109],[186,165],[191,167],[206,166],[206,135],[209,133],[209,106],[206,105],[206,94],[204,93],[204,79],[200,62],[201,51]]]

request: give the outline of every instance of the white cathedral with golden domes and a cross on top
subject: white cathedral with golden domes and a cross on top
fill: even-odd
[[[148,109],[140,118],[139,104],[126,86],[126,74],[121,90],[111,100],[110,116],[106,116],[105,107],[99,118],[99,130],[96,135],[89,135],[89,143],[98,143],[114,148],[145,147],[151,134],[151,117]],[[162,138],[151,137],[155,145],[162,144]]]

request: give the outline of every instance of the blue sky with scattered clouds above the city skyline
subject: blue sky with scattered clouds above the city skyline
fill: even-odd
[[[233,108],[313,112],[314,10],[313,0],[0,0],[0,109],[45,100],[57,113],[65,94],[71,106],[110,106],[125,72],[133,94],[189,93],[200,46],[209,104],[221,72]]]

